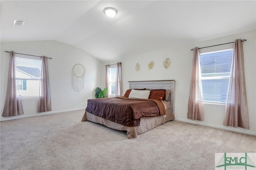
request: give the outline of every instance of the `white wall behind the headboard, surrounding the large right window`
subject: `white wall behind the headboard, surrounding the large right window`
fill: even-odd
[[[225,105],[205,104],[204,121],[191,121],[187,119],[188,97],[190,89],[190,79],[192,71],[193,52],[190,49],[194,47],[206,47],[227,42],[234,42],[235,39],[247,39],[244,45],[244,65],[246,78],[246,91],[249,110],[250,130],[243,128],[225,127],[222,123],[225,116]],[[223,49],[232,47],[233,43],[220,45],[211,48],[205,48],[204,51],[212,49]],[[203,50],[202,50],[203,51]],[[168,69],[164,69],[163,61],[170,58],[171,63]],[[155,66],[148,71],[148,63],[154,61]],[[123,93],[129,88],[128,81],[146,81],[146,80],[176,80],[175,83],[175,117],[178,121],[217,127],[226,130],[244,132],[256,135],[256,31],[244,32],[215,40],[185,45],[182,47],[163,49],[151,53],[145,53],[130,58],[119,59],[106,62],[113,64],[122,62],[122,81]],[[140,70],[135,71],[136,63],[140,64]],[[104,73],[104,70],[102,71]],[[104,79],[104,78],[103,78]],[[103,80],[104,81],[104,80]],[[104,85],[104,84],[103,84]]]

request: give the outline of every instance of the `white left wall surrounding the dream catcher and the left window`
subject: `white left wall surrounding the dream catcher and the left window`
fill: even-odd
[[[34,41],[34,42],[4,42],[1,43],[1,68],[0,68],[0,111],[4,109],[7,88],[7,75],[10,53],[4,51],[15,51],[31,55],[45,55],[52,57],[48,59],[50,78],[50,93],[52,111],[37,113],[38,99],[22,99],[24,115],[16,117],[1,117],[1,121],[34,115],[44,115],[85,109],[87,99],[94,97],[94,89],[102,85],[102,61],[96,59],[85,51],[72,45],[57,41]],[[82,64],[85,69],[85,86],[80,92],[72,89],[72,67]],[[82,119],[82,118],[81,118]]]

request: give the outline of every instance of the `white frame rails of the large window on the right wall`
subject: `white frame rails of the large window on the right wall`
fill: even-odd
[[[205,51],[205,52],[200,52],[200,61],[201,61],[201,55],[203,54],[210,54],[210,53],[218,53],[218,52],[224,52],[224,51],[233,51],[234,48],[233,47],[227,47],[227,48],[224,48],[224,49],[213,49],[211,51]],[[232,65],[232,61],[231,61],[231,65]],[[231,68],[231,65],[230,65],[230,68]],[[200,64],[200,67],[202,68],[202,65]],[[201,69],[200,69],[201,70]],[[228,73],[228,72],[222,72],[222,73]],[[207,74],[207,73],[205,73]],[[212,74],[212,73],[209,73],[209,74]],[[230,74],[230,72],[229,72]],[[202,70],[201,70],[201,81],[203,80],[221,80],[221,79],[230,79],[230,75],[224,75],[224,76],[212,76],[212,77],[203,77],[203,73],[202,73]],[[202,85],[203,86],[203,85]],[[203,97],[204,97],[204,94],[203,94]],[[207,100],[204,100],[203,99],[203,102],[206,103],[206,104],[215,104],[215,105],[225,105],[226,102],[221,102],[221,101],[207,101]]]

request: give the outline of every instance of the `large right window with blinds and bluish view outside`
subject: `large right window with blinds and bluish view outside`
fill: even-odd
[[[200,54],[204,101],[226,103],[233,49]]]

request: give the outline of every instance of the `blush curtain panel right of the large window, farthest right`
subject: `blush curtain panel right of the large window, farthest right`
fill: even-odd
[[[235,40],[223,125],[249,129],[244,76],[244,51],[241,39]]]

